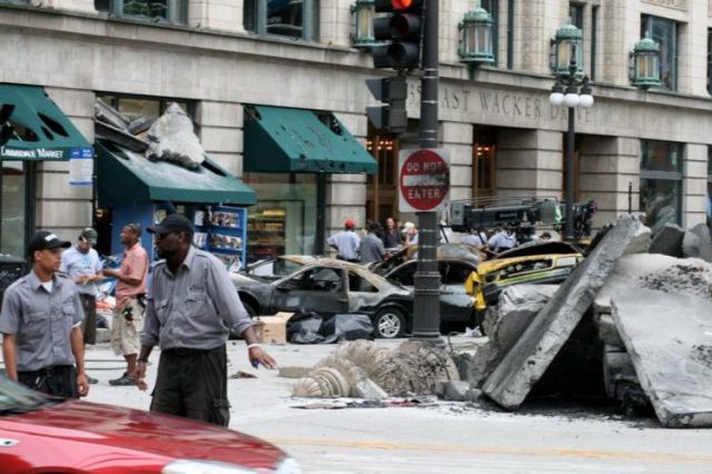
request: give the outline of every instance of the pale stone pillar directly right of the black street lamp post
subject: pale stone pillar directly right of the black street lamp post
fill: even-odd
[[[581,144],[578,201],[593,199],[599,213],[593,227],[601,228],[627,213],[629,182],[632,211],[640,210],[641,142],[635,138],[585,136]]]

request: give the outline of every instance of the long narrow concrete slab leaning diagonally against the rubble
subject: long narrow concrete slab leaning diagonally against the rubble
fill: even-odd
[[[505,408],[518,407],[593,303],[615,261],[649,245],[650,229],[632,216],[619,217],[487,378],[483,392]]]

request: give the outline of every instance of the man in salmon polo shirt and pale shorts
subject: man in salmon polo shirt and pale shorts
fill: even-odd
[[[136,359],[140,349],[144,327],[144,306],[139,298],[146,295],[148,254],[140,243],[141,226],[128,224],[121,230],[123,261],[118,270],[106,269],[103,275],[113,277],[116,284],[116,306],[111,324],[111,347],[116,355],[126,359],[126,372],[119,378],[109,381],[116,386],[136,385]]]

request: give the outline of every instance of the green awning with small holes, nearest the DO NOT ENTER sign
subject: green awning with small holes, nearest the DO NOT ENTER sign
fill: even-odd
[[[246,106],[245,171],[367,172],[378,164],[333,113]]]

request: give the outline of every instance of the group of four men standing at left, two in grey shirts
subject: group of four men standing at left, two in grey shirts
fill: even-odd
[[[0,309],[6,374],[49,395],[86,396],[98,382],[85,368],[85,346],[96,342],[97,284],[110,277],[117,279],[111,346],[127,366],[109,384],[146,391],[149,356],[159,346],[150,411],[227,426],[229,335],[241,335],[253,366],[275,368],[276,362],[258,344],[225,265],[191,245],[192,223],[171,214],[148,233],[162,258],[150,287],[138,224],[121,231],[118,269],[102,268],[91,228],[75,247],[53,233],[36,233],[27,245],[31,269],[7,288]]]

